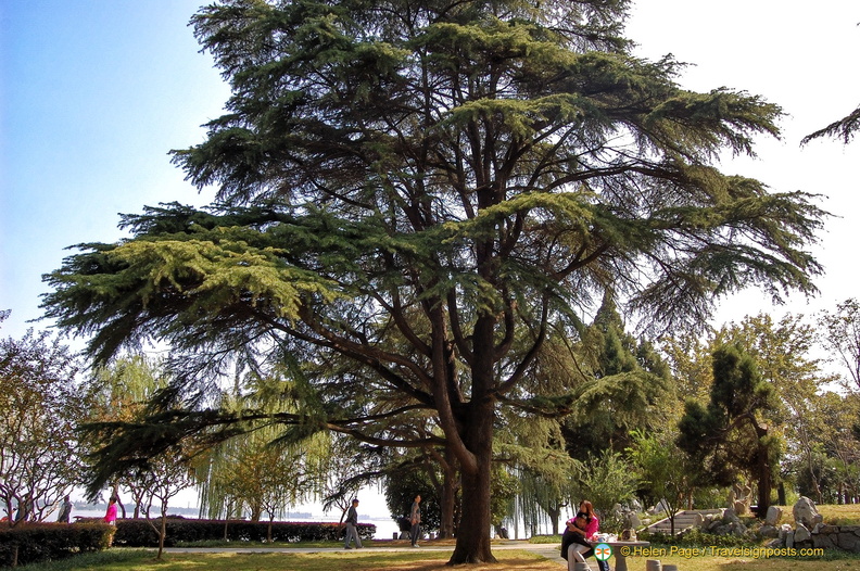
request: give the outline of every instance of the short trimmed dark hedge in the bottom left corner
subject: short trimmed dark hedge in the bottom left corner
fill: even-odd
[[[100,551],[111,546],[116,528],[106,523],[20,523],[0,528],[0,566],[11,567]],[[17,559],[15,550],[17,549]]]

